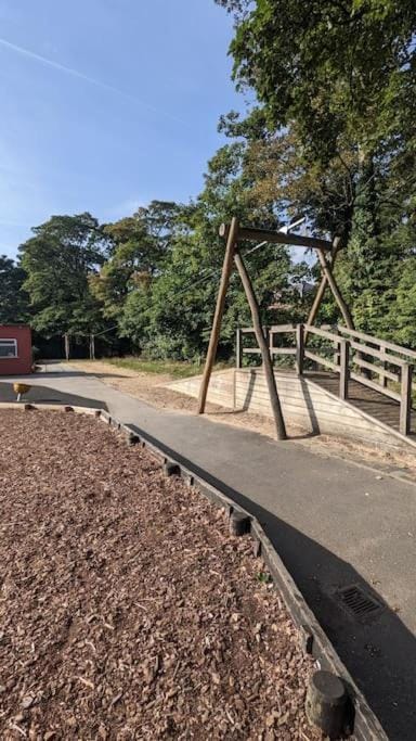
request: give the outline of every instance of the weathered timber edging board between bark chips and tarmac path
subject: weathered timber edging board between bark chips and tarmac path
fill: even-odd
[[[135,425],[119,422],[106,411],[102,410],[100,418],[110,426],[122,431],[127,435],[130,445],[136,444],[154,453],[165,464],[167,475],[173,473],[179,475],[187,485],[197,488],[211,502],[225,508],[230,515],[233,512],[239,512],[249,519],[249,532],[256,542],[255,552],[256,554],[261,554],[270,570],[273,582],[277,586],[286,608],[299,630],[303,651],[316,660],[317,668],[334,673],[342,679],[347,687],[351,701],[351,734],[349,738],[356,739],[356,741],[388,741],[388,737],[379,720],[308,606],[259,521],[243,507],[237,507],[235,501],[221,490],[218,483],[212,485],[207,480],[209,476],[203,475],[197,465],[193,465],[160,440],[157,440]],[[224,489],[226,489],[225,485]]]

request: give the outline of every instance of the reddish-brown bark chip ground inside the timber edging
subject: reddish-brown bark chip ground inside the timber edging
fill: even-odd
[[[321,738],[249,538],[93,418],[0,412],[0,738]]]

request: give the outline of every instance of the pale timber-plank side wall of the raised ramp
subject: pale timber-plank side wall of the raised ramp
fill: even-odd
[[[275,371],[283,413],[288,422],[317,432],[384,448],[402,448],[405,439],[391,427],[336,398],[311,379],[295,373]],[[197,397],[202,376],[193,376],[168,384],[182,394]],[[264,374],[258,368],[225,370],[212,373],[208,401],[235,410],[271,417]]]

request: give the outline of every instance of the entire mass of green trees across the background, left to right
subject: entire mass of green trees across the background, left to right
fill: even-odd
[[[339,235],[341,290],[358,328],[416,347],[416,5],[411,0],[216,0],[234,16],[233,77],[253,100],[224,113],[223,143],[188,203],[152,201],[114,223],[90,214],[34,228],[0,258],[0,321],[46,336],[116,328],[157,357],[204,355],[222,221],[277,229],[304,218]],[[318,270],[286,247],[242,245],[264,322],[297,321]],[[321,318],[337,321],[327,297]],[[220,352],[249,321],[234,276]]]

